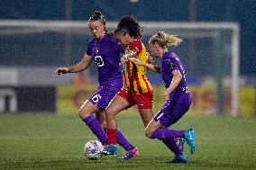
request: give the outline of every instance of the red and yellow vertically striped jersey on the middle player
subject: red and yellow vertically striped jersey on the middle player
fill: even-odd
[[[141,40],[135,39],[129,44],[126,51],[136,51],[137,56],[142,62],[148,62],[147,49]],[[146,76],[147,68],[126,61],[123,66],[123,90],[132,94],[145,94],[152,91],[151,84]]]

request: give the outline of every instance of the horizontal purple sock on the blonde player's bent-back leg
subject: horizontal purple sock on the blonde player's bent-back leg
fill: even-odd
[[[155,130],[151,135],[151,139],[160,140],[176,137],[184,137],[184,132],[182,130],[158,129]]]

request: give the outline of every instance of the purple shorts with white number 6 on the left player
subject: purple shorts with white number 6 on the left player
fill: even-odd
[[[111,100],[114,98],[123,86],[123,79],[112,81],[98,86],[96,93],[93,94],[88,100],[95,104],[99,110],[105,110]]]

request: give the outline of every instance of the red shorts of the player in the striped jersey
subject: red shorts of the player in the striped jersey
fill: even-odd
[[[152,109],[153,92],[145,94],[131,94],[125,90],[121,90],[118,95],[123,97],[131,106],[137,104],[138,109]]]

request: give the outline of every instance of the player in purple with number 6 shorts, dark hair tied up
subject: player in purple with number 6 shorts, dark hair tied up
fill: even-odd
[[[123,46],[119,45],[114,36],[107,33],[105,18],[101,12],[96,11],[88,20],[88,26],[93,35],[89,41],[87,53],[84,58],[75,66],[59,67],[55,71],[56,75],[77,73],[87,69],[91,61],[94,60],[98,69],[99,86],[93,94],[79,109],[79,116],[88,128],[96,135],[97,139],[105,146],[108,143],[105,134],[105,108],[123,86],[123,74],[121,63],[121,53]],[[96,116],[94,113],[96,112]],[[126,151],[130,151],[134,146],[117,130],[117,143]]]

